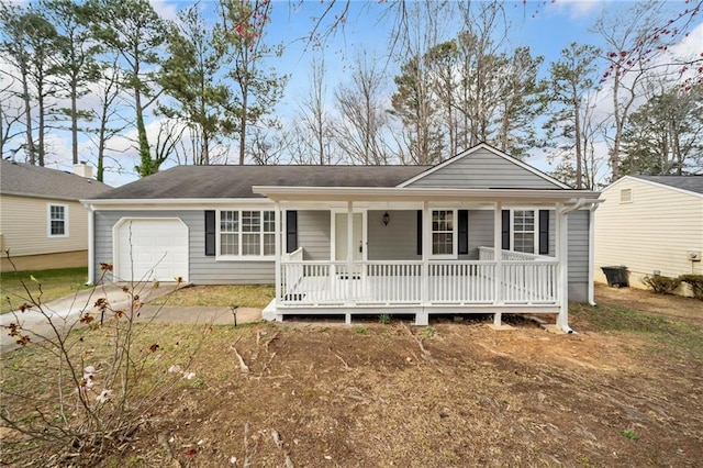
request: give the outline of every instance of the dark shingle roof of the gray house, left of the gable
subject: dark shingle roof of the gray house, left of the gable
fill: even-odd
[[[429,167],[432,166],[177,166],[96,198],[261,198],[252,192],[253,186],[395,187]]]

